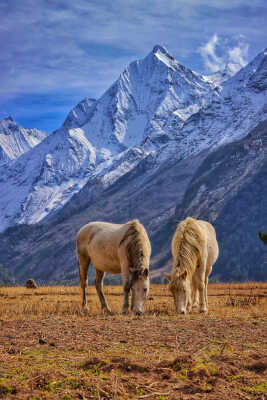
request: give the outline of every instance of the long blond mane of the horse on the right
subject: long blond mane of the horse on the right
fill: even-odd
[[[180,222],[172,240],[173,273],[182,275],[185,271],[190,277],[203,257],[204,235],[198,221],[186,218]]]

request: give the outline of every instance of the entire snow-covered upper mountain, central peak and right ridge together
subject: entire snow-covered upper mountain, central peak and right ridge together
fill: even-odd
[[[267,52],[223,89],[155,46],[99,100],[84,99],[63,126],[2,169],[0,226],[57,213],[85,185],[105,190],[150,159],[154,172],[240,139],[266,119]]]

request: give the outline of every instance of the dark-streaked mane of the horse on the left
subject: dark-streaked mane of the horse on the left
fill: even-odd
[[[125,245],[130,272],[138,275],[142,272],[144,264],[149,267],[149,239],[138,219],[129,221],[126,225],[128,228],[120,241],[120,246]]]

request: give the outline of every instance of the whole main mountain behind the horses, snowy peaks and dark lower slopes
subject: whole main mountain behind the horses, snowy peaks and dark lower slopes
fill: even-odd
[[[152,240],[152,266],[166,268],[172,232],[190,214],[216,223],[220,278],[236,265],[238,279],[266,277],[258,264],[255,274],[253,257],[266,222],[267,51],[215,87],[156,46],[99,100],[84,99],[58,131],[0,170],[1,229],[20,224],[0,234],[0,263],[20,280],[73,277],[83,224],[137,217]],[[228,236],[239,246],[234,261]]]

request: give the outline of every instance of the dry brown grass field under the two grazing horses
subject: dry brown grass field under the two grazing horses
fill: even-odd
[[[267,284],[209,285],[209,314],[176,315],[152,285],[141,317],[90,313],[78,287],[0,288],[0,399],[266,399]]]

